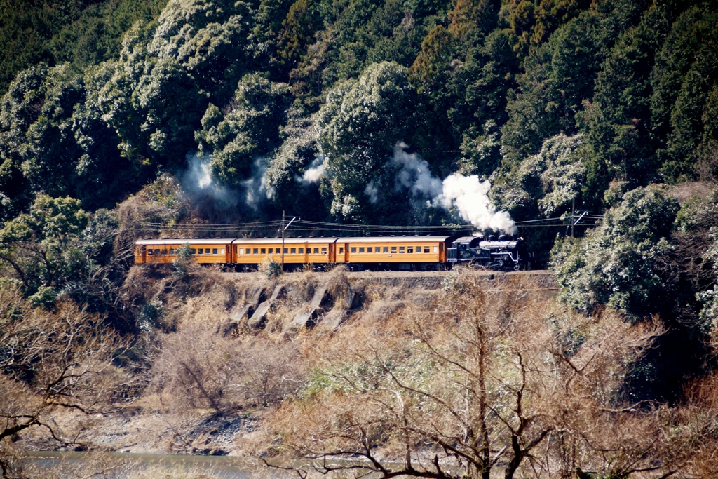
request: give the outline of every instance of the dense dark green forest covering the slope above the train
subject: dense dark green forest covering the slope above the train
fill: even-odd
[[[55,18],[42,2],[11,10]],[[375,223],[411,208],[383,168],[400,141],[435,175],[517,185],[518,165],[546,141],[580,134],[582,165],[557,170],[564,180],[546,178],[523,200],[513,187],[493,195],[530,203],[521,219],[560,214],[571,196],[604,208],[615,181],[688,179],[717,148],[715,49],[701,42],[716,37],[713,4],[113,0],[60,10],[55,60],[39,54],[57,66],[30,65],[3,101],[0,220],[39,191],[111,208],[197,148],[220,184],[243,189],[266,158],[277,208],[321,203],[328,211],[302,214]],[[93,51],[73,55],[76,45]],[[317,149],[327,175],[295,181]],[[561,182],[584,175],[580,195],[567,194]],[[364,192],[372,180],[376,203]]]

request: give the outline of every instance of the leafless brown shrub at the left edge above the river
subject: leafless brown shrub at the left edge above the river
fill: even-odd
[[[17,287],[0,287],[0,470],[9,470],[3,451],[17,434],[33,429],[73,445],[87,417],[119,409],[134,394],[114,365],[124,348],[102,317],[73,302],[33,308]]]

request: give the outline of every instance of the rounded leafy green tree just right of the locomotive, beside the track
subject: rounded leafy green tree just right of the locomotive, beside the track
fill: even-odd
[[[659,187],[638,188],[585,238],[557,243],[551,264],[561,298],[579,311],[607,305],[633,320],[665,310],[672,285],[654,266],[671,248],[668,236],[677,212],[676,200]]]

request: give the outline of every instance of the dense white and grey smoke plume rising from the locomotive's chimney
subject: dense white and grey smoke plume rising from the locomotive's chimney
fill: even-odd
[[[387,167],[398,168],[395,177],[396,190],[409,190],[414,197],[426,200],[426,205],[455,209],[456,213],[480,230],[503,231],[516,233],[516,223],[505,211],[496,211],[488,197],[491,183],[479,180],[477,175],[464,176],[458,173],[449,175],[444,181],[434,177],[429,171],[429,163],[416,154],[406,153],[406,144],[398,143],[394,147],[393,157]],[[373,187],[370,182],[365,193]],[[376,197],[376,190],[373,196]],[[376,203],[376,200],[375,200]]]

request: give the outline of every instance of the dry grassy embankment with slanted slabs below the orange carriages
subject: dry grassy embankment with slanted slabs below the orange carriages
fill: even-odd
[[[431,309],[456,271],[360,272],[335,269],[267,279],[259,273],[135,267],[126,283],[146,332],[139,392],[120,414],[81,418],[90,450],[236,455],[272,408],[306,376],[303,350],[341,327],[391,321],[404,307]],[[481,274],[486,289],[550,297],[548,271]],[[78,417],[59,417],[67,427]],[[27,447],[51,442],[24,437]]]

